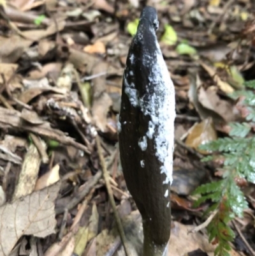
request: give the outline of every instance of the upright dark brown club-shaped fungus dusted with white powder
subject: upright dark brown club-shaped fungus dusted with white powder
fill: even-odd
[[[156,30],[156,9],[143,9],[122,84],[120,160],[143,219],[143,256],[167,255],[175,91]]]

